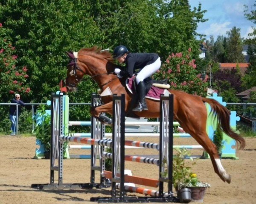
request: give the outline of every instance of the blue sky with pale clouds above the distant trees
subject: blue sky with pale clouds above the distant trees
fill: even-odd
[[[210,35],[213,35],[214,40],[218,35],[227,36],[227,31],[234,26],[241,29],[241,37],[247,38],[247,35],[253,31],[252,27],[255,27],[251,21],[245,19],[243,5],[247,5],[249,11],[254,10],[253,4],[256,0],[189,0],[191,8],[198,8],[199,2],[202,4],[202,10],[207,10],[204,18],[209,20],[199,23],[197,32],[206,34],[207,39]]]

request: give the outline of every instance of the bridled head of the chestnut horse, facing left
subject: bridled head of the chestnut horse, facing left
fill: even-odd
[[[83,67],[77,65],[77,52],[67,52],[67,55],[70,57],[70,63],[67,65],[66,87],[68,92],[72,92],[76,91],[77,84],[86,73]]]

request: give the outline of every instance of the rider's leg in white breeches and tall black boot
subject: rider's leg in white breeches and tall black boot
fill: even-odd
[[[138,85],[139,103],[133,111],[147,111],[147,104],[145,102],[145,84],[144,79],[154,74],[161,66],[160,57],[152,64],[146,65],[136,76],[136,83]]]

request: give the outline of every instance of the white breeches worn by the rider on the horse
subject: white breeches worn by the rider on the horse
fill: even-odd
[[[160,57],[150,65],[146,65],[136,76],[136,82],[139,84],[145,78],[154,74],[161,67]]]

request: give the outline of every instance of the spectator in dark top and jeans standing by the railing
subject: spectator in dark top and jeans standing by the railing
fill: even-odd
[[[22,100],[20,100],[20,94],[15,94],[15,99],[11,100],[11,103],[18,103],[18,116],[20,115],[20,105],[25,105],[24,102]],[[15,135],[15,130],[16,130],[16,105],[10,105],[10,120],[12,122],[12,126],[11,126],[11,135]]]

